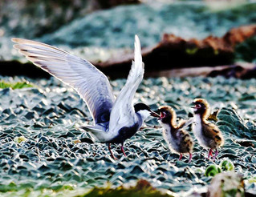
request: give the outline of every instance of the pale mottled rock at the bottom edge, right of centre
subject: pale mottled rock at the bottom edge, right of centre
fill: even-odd
[[[213,177],[212,182],[208,187],[208,197],[221,196],[245,196],[244,182],[242,175],[229,171],[226,173],[217,174]]]

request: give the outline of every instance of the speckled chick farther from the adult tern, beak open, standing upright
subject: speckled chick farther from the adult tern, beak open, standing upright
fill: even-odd
[[[217,148],[224,144],[224,138],[219,128],[207,121],[210,113],[209,103],[205,99],[194,99],[193,104],[195,105],[193,133],[202,147],[209,148],[208,158],[213,156],[215,150],[213,156],[215,160],[218,154]]]

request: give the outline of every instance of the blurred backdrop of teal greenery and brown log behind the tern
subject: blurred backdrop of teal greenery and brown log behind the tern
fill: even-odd
[[[28,38],[86,58],[125,78],[134,35],[145,76],[256,76],[255,1],[2,0],[0,75],[48,74],[26,62],[10,38]]]

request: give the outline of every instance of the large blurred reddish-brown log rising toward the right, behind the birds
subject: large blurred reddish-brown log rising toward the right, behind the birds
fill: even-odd
[[[185,39],[164,34],[161,42],[142,50],[146,71],[166,70],[192,66],[220,66],[234,63],[234,50],[238,43],[256,35],[256,25],[240,26],[229,30],[223,37]],[[131,54],[116,55],[107,62],[95,63],[107,74],[128,70]],[[157,66],[157,67],[156,67]],[[237,67],[239,71],[239,67]]]

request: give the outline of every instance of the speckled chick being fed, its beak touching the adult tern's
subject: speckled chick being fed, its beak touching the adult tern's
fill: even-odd
[[[182,154],[189,154],[189,163],[192,159],[193,151],[193,139],[189,133],[182,129],[184,123],[177,125],[177,116],[172,107],[162,106],[158,109],[160,114],[159,123],[161,123],[163,130],[163,135],[166,143],[169,144],[169,148],[178,154],[180,154],[180,159]]]

